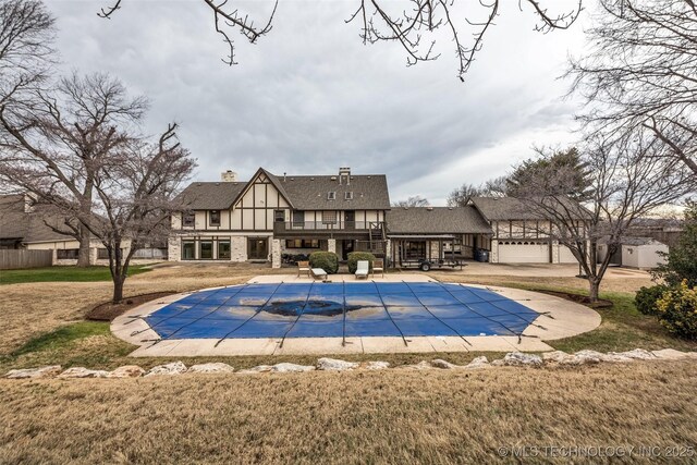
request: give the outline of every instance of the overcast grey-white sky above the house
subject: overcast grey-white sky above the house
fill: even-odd
[[[560,76],[583,52],[585,13],[567,30],[541,34],[530,8],[502,2],[463,83],[448,37],[435,37],[438,60],[409,68],[398,44],[364,45],[359,24],[344,22],[356,0],[280,0],[257,44],[232,32],[234,66],[221,60],[228,50],[203,0],[123,0],[111,20],[96,14],[109,0],[46,3],[62,71],[108,72],[147,96],[148,134],[179,122],[198,160],[195,181],[219,181],[228,169],[246,180],[259,167],[334,174],[347,166],[387,174],[392,200],[420,195],[438,206],[463,183],[510,172],[533,146],[577,138],[579,103],[564,97],[570,83]],[[234,4],[261,23],[272,3]],[[476,0],[460,4],[456,13],[484,13]],[[457,24],[469,37],[464,16]]]

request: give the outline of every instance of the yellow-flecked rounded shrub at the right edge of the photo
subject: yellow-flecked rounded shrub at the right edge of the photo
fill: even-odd
[[[697,340],[697,286],[690,289],[684,280],[678,287],[667,291],[656,307],[661,325],[671,333]]]

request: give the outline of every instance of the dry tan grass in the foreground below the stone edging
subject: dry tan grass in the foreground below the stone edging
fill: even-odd
[[[499,446],[695,446],[696,377],[694,362],[637,362],[0,380],[0,462],[510,463]]]

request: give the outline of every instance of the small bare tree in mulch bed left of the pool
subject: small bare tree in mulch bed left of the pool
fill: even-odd
[[[123,298],[135,252],[168,238],[171,213],[181,209],[174,196],[195,166],[176,139],[176,124],[170,124],[157,143],[133,139],[99,161],[94,211],[81,220],[107,249],[113,303]]]

